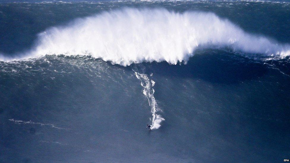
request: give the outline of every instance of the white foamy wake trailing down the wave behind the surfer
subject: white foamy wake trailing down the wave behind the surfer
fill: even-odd
[[[147,97],[149,106],[151,107],[152,113],[152,125],[151,129],[158,129],[161,125],[160,123],[165,119],[161,115],[156,114],[157,111],[162,111],[157,107],[154,95],[154,89],[152,88],[155,84],[153,80],[149,80],[146,74],[140,74],[135,72],[136,77],[141,80],[141,86],[144,87],[143,94]]]

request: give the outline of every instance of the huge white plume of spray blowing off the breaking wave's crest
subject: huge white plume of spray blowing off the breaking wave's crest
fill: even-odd
[[[251,35],[213,13],[122,9],[75,20],[39,34],[29,56],[92,55],[123,66],[143,61],[187,61],[197,48],[230,48],[284,57],[289,45]]]

